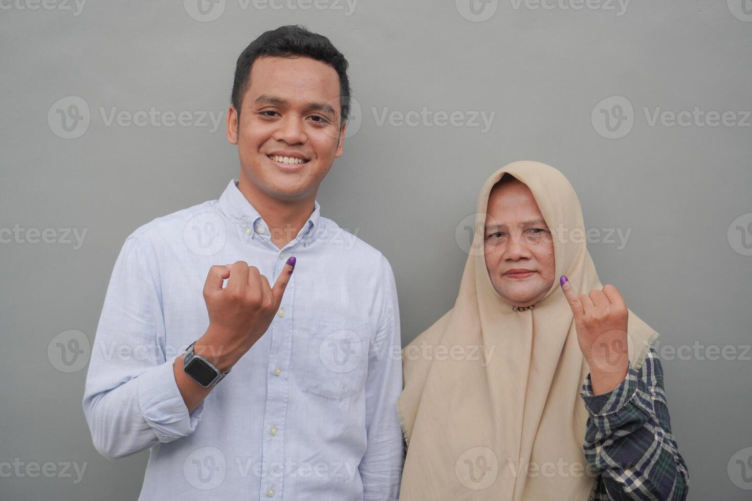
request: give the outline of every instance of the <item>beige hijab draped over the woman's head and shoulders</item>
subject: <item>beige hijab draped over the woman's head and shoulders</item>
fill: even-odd
[[[529,187],[554,237],[557,279],[524,311],[496,293],[483,254],[489,194],[505,173]],[[556,169],[517,161],[488,178],[475,222],[454,307],[402,352],[397,409],[408,454],[400,499],[584,501],[595,479],[582,451],[579,392],[589,369],[558,280],[566,275],[578,294],[602,288],[580,202]],[[638,370],[658,334],[631,311],[628,334]]]

